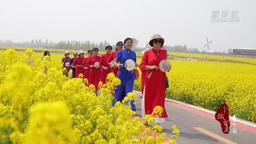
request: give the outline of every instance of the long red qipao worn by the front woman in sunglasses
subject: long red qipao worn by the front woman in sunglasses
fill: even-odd
[[[140,63],[141,70],[145,70],[146,66],[158,66],[160,60],[158,59],[158,56],[153,52],[156,52],[158,56],[160,57],[160,60],[166,60],[166,52],[163,50],[156,51],[154,48],[151,50],[147,50],[143,57],[142,61]],[[164,111],[162,113],[162,118],[167,118],[167,113],[164,108],[164,102],[165,102],[165,73],[158,70],[145,70],[145,90],[144,90],[144,108],[145,113],[144,114],[152,114],[153,109],[156,106],[161,106]],[[153,71],[153,72],[152,72]],[[148,75],[152,72],[152,75],[150,78],[148,78]],[[142,103],[143,104],[143,103]],[[142,112],[143,116],[143,112]]]

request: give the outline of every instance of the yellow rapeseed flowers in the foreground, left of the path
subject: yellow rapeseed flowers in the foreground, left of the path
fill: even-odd
[[[60,54],[42,54],[14,50],[1,51],[0,56],[0,142],[3,144],[175,144],[164,141],[165,133],[156,125],[145,127],[126,106],[136,98],[128,93],[124,101],[112,106],[114,88],[120,80],[108,74],[107,84],[86,86],[82,78],[66,78],[62,74]],[[30,65],[32,58],[34,65]],[[51,60],[51,62],[50,62]],[[45,74],[45,68],[47,73]],[[156,107],[155,114],[161,115]],[[146,116],[154,123],[154,118]],[[173,135],[180,131],[172,126]]]

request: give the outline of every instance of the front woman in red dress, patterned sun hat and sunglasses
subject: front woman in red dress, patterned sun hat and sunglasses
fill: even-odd
[[[159,122],[165,122],[164,118],[168,118],[164,108],[166,74],[159,69],[160,60],[166,60],[166,52],[160,50],[164,44],[164,38],[159,34],[154,34],[149,44],[153,48],[144,53],[140,63],[141,70],[146,71],[142,97],[142,118],[146,114],[152,114],[156,106],[161,106],[163,108],[162,116],[157,117],[155,121],[155,124],[159,124]],[[145,125],[148,125],[147,122]]]

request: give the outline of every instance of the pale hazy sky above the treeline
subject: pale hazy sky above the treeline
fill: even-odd
[[[238,10],[240,22],[213,23],[212,11]],[[256,0],[0,0],[0,39],[90,40],[110,44],[134,37],[144,47],[152,34],[165,44],[256,48]]]

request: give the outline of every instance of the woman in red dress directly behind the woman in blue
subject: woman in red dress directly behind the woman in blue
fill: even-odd
[[[112,52],[108,58],[108,61],[107,61],[107,65],[110,66],[111,68],[111,72],[113,72],[115,74],[115,76],[117,75],[117,72],[118,72],[118,68],[116,67],[116,65],[113,64],[114,62],[114,59],[116,58],[116,55],[117,53],[123,49],[123,42],[117,42],[116,43],[116,51],[115,52]],[[112,62],[112,63],[111,63]]]

